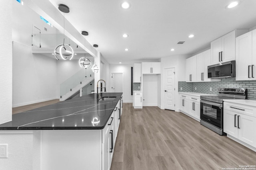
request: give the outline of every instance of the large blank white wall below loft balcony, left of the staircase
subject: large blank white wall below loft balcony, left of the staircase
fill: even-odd
[[[13,42],[12,106],[56,99],[56,60],[32,54],[30,46]]]

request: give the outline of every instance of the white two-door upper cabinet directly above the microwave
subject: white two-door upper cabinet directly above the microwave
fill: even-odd
[[[211,42],[211,65],[236,59],[236,37],[247,29],[234,30]]]

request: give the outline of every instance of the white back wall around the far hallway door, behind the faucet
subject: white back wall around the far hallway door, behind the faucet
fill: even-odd
[[[123,89],[123,101],[124,103],[132,103],[131,95],[131,67],[133,64],[109,64],[110,74],[112,72],[124,73],[124,89]],[[109,74],[109,76],[110,76]],[[110,83],[110,82],[109,82]]]

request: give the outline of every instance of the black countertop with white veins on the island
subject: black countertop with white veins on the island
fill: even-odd
[[[17,113],[0,130],[104,129],[122,93],[100,93],[109,96],[116,98],[99,101],[94,93]]]

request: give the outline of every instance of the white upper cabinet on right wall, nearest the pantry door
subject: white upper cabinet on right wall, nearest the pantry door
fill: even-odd
[[[186,82],[196,82],[196,55],[186,59]]]

